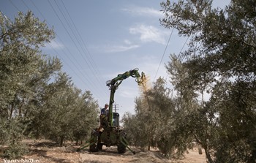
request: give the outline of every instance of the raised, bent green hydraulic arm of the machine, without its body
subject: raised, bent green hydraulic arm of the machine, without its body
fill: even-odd
[[[124,74],[119,74],[117,77],[113,78],[112,80],[108,80],[106,85],[110,88],[110,102],[109,102],[109,114],[108,114],[108,122],[110,122],[110,126],[113,126],[113,103],[114,103],[114,94],[116,92],[116,89],[121,84],[121,82],[124,79],[127,79],[128,77],[136,77],[135,81],[140,86],[146,79],[143,72],[138,72],[138,69],[132,69],[127,72],[124,72]]]

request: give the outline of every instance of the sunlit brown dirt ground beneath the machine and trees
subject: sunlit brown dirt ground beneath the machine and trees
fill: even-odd
[[[132,148],[136,154],[134,155],[127,149],[126,153],[117,153],[116,147],[103,146],[102,151],[91,153],[88,148],[78,152],[79,146],[69,143],[66,146],[58,147],[54,143],[47,141],[27,141],[30,153],[21,159],[0,159],[0,163],[10,162],[45,162],[45,163],[205,163],[205,154],[199,154],[198,149],[189,150],[181,159],[166,159],[165,156],[152,149],[151,151],[141,151],[139,148]]]

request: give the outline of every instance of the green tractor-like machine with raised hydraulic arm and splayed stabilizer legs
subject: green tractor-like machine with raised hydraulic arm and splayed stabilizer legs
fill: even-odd
[[[124,132],[123,129],[120,129],[119,114],[113,113],[114,94],[121,82],[124,79],[127,79],[127,77],[136,77],[135,81],[139,86],[145,81],[144,73],[142,72],[140,75],[138,69],[129,70],[124,72],[124,74],[119,74],[112,80],[107,81],[106,85],[110,88],[108,114],[100,116],[99,128],[93,129],[90,140],[87,141],[80,149],[89,146],[89,151],[97,152],[102,150],[102,145],[106,145],[107,147],[117,145],[118,153],[124,153],[126,148],[128,148],[129,151],[132,151],[132,148],[129,147],[129,143],[126,139],[126,132]],[[132,151],[132,153],[135,154],[135,151]]]

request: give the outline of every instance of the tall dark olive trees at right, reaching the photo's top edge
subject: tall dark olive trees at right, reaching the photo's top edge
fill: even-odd
[[[161,4],[162,26],[190,38],[167,64],[184,122],[177,131],[192,136],[208,162],[256,160],[255,2],[234,0],[224,10],[206,0]]]

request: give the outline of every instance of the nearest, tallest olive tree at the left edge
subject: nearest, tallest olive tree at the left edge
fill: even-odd
[[[1,143],[13,149],[7,155],[18,156],[15,147],[32,118],[29,113],[36,108],[34,102],[40,100],[50,75],[59,71],[61,64],[39,50],[54,38],[54,32],[32,12],[18,12],[13,21],[1,13],[0,26],[0,136]]]

